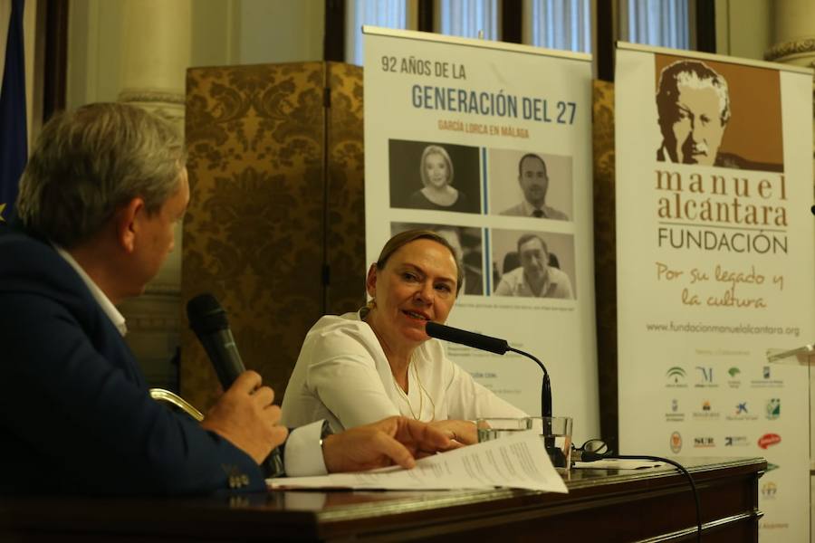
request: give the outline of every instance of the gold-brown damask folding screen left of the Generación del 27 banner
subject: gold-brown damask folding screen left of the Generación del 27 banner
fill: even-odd
[[[365,301],[362,69],[191,68],[186,139],[181,299],[216,296],[280,402],[308,329]],[[219,387],[181,321],[181,394],[203,410]]]

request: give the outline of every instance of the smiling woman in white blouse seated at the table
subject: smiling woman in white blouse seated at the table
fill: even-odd
[[[283,398],[282,424],[326,419],[338,432],[402,414],[475,443],[475,418],[526,416],[475,383],[425,333],[428,320],[446,321],[462,276],[452,247],[437,233],[392,237],[368,271],[368,305],[323,317],[306,336]]]

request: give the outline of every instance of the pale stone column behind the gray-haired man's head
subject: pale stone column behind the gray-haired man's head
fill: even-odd
[[[191,0],[125,0],[119,101],[156,113],[184,129],[190,62]],[[179,345],[181,227],[176,246],[145,293],[123,303],[128,343],[150,386],[177,385],[171,360]]]

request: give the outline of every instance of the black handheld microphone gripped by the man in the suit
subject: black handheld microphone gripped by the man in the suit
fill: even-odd
[[[215,296],[199,294],[187,302],[189,328],[196,333],[198,341],[206,350],[206,356],[215,367],[218,381],[224,391],[232,386],[237,376],[246,371],[244,361],[235,345],[232,330],[226,320],[226,311]],[[261,466],[266,477],[283,475],[283,458],[278,449],[273,449]]]

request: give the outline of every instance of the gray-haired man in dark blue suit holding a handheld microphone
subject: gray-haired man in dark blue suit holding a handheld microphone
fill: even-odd
[[[189,200],[185,158],[175,129],[124,104],[43,127],[18,217],[0,227],[0,463],[12,468],[0,493],[265,489],[260,465],[288,431],[261,376],[238,376],[199,424],[150,397],[122,338],[116,304],[139,295],[173,249]],[[450,446],[398,417],[321,431],[289,436],[289,474],[409,467],[417,452]]]

